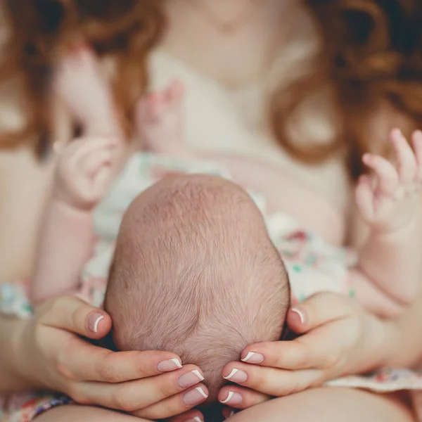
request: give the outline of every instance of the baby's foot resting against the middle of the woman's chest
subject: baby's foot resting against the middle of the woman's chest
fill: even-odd
[[[183,85],[173,82],[164,91],[143,96],[136,107],[136,127],[143,150],[186,155],[182,134]]]

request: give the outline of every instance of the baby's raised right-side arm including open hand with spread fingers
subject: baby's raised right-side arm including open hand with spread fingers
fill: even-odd
[[[422,134],[413,135],[415,152],[398,130],[392,131],[391,141],[397,165],[378,155],[364,155],[376,178],[363,176],[356,197],[371,231],[351,274],[358,299],[386,316],[416,298],[422,255]]]

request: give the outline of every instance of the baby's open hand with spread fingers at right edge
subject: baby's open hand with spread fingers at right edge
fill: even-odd
[[[362,176],[356,200],[364,220],[373,229],[388,232],[416,222],[422,187],[422,132],[414,132],[412,151],[402,132],[394,129],[391,141],[396,165],[379,155],[365,154],[363,162],[374,177]]]

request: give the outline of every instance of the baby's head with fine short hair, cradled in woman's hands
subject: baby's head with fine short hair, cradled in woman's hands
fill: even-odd
[[[124,215],[105,306],[119,350],[169,350],[215,399],[244,347],[278,340],[288,277],[248,193],[210,176],[162,179]]]

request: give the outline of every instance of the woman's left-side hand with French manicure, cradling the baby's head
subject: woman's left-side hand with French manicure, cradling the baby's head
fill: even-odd
[[[34,388],[143,418],[181,414],[205,400],[207,388],[198,376],[202,372],[193,365],[181,367],[177,355],[112,352],[77,335],[100,339],[110,328],[106,312],[76,297],[49,300],[18,333],[20,373]]]

